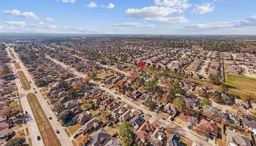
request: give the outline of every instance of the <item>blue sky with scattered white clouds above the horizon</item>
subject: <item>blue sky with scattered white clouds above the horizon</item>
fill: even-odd
[[[0,32],[256,35],[256,1],[1,0]]]

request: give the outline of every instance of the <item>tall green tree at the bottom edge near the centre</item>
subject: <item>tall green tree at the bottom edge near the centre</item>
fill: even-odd
[[[132,143],[132,126],[128,121],[124,121],[124,123],[119,127],[118,136],[122,141],[123,146],[130,146]]]

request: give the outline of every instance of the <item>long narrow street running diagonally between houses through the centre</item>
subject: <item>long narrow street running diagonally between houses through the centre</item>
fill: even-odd
[[[49,56],[47,56],[48,58],[50,58]],[[76,71],[74,68],[71,68],[69,66],[67,66],[66,64],[58,61],[58,60],[55,60],[55,59],[52,59],[50,58],[52,61],[54,61],[55,63],[58,63],[60,64],[63,68],[66,68],[66,69],[69,69],[70,71],[73,71],[74,74],[76,74],[78,77],[82,77],[84,78],[86,75],[85,74],[82,74],[81,72],[78,72]],[[135,104],[134,102],[124,98],[124,95],[119,95],[119,94],[115,94],[113,90],[110,90],[109,88],[106,88],[104,86],[101,86],[99,85],[98,83],[94,82],[93,80],[90,81],[91,83],[94,83],[96,85],[98,85],[99,88],[101,88],[102,90],[105,90],[107,93],[109,93],[110,95],[113,95],[115,96],[115,98],[119,97],[121,98],[121,100],[123,102],[125,102],[126,104],[129,104],[130,106],[134,107],[135,109],[142,109],[143,112],[145,112],[146,114],[150,114],[152,115],[152,118],[154,118],[154,120],[156,120],[156,117],[158,117],[157,113],[156,112],[152,112],[152,111],[149,111],[145,108],[143,108],[142,106],[138,106],[137,104]],[[198,141],[202,141],[203,139],[200,139],[198,138],[197,136],[185,131],[184,129],[178,127],[178,126],[175,126],[173,125],[172,123],[170,123],[169,121],[167,120],[164,120],[164,119],[159,119],[158,120],[159,123],[163,124],[165,127],[168,127],[168,128],[171,128],[171,129],[175,129],[175,132],[179,133],[180,135],[183,135],[184,137],[187,137],[187,139],[190,139],[193,141],[194,145],[196,145],[196,143],[198,143]],[[210,143],[206,143],[204,145],[211,145]]]

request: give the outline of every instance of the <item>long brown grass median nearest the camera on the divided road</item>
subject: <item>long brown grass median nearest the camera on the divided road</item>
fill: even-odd
[[[42,135],[42,139],[45,145],[61,145],[58,137],[52,129],[42,107],[40,106],[38,100],[36,99],[36,95],[33,93],[29,93],[27,95],[27,99],[33,115],[35,116],[37,126]]]

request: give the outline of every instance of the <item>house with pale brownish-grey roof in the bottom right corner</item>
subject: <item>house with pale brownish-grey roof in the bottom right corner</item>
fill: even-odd
[[[251,146],[251,141],[248,137],[230,129],[227,129],[227,142],[229,146]]]

